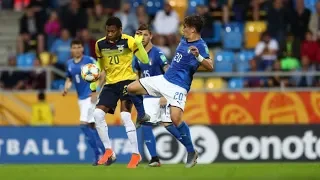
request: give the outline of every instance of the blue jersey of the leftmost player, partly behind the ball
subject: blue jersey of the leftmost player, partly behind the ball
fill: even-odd
[[[95,64],[95,59],[90,56],[83,56],[78,63],[75,63],[73,59],[67,62],[67,77],[76,87],[79,99],[86,99],[91,95],[90,83],[81,78],[81,67],[90,63]]]

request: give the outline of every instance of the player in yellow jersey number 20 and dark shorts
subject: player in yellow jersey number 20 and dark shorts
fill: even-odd
[[[110,17],[106,22],[106,37],[96,42],[98,66],[106,73],[106,84],[100,93],[94,111],[96,128],[106,148],[98,164],[110,165],[116,159],[111,147],[105,115],[114,113],[119,99],[121,101],[121,120],[132,145],[132,157],[127,167],[136,168],[141,161],[136,128],[131,119],[132,101],[126,87],[137,78],[132,68],[133,55],[137,56],[142,63],[149,62],[147,52],[142,45],[142,38],[139,33],[135,38],[122,34],[120,19]],[[91,89],[94,90],[94,87]]]

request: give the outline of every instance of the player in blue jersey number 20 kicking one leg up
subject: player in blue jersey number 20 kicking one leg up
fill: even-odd
[[[186,17],[183,23],[184,37],[181,38],[172,63],[165,74],[139,79],[127,88],[131,94],[163,96],[167,99],[171,120],[178,128],[184,144],[189,145],[187,146],[187,168],[193,167],[198,158],[198,153],[192,145],[189,127],[182,121],[187,93],[190,90],[193,74],[200,65],[208,71],[213,70],[208,47],[200,35],[203,25],[204,20],[201,16]]]

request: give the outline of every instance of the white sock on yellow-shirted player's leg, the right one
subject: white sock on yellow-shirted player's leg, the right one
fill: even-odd
[[[139,154],[136,127],[131,120],[131,114],[128,112],[121,112],[120,117],[126,128],[128,139],[132,146],[132,153]]]

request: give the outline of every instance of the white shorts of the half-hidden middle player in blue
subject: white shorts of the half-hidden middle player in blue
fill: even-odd
[[[150,122],[157,124],[159,122],[172,123],[170,118],[169,106],[160,107],[160,98],[148,97],[143,99],[144,110],[151,117]]]

